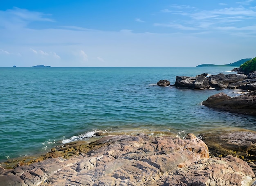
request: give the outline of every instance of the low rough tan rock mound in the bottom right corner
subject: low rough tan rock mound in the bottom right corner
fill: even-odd
[[[229,186],[250,185],[251,171],[244,170],[245,161],[227,156],[224,158],[200,159],[197,164],[176,169],[168,176],[164,185],[168,186]],[[240,180],[243,180],[242,182]],[[193,183],[193,184],[191,184]]]

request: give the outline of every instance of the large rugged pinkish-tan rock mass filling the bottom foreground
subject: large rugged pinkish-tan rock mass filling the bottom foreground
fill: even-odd
[[[255,178],[241,159],[209,158],[207,146],[193,134],[184,140],[144,134],[108,136],[91,145],[101,147],[70,159],[0,170],[0,185],[249,186]]]

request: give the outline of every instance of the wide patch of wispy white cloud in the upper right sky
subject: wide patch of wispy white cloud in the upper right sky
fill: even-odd
[[[248,4],[253,0],[238,2],[239,4]],[[219,5],[228,5],[219,3]],[[195,7],[186,5],[171,5],[168,9],[163,9],[161,12],[169,13],[170,20],[166,23],[155,23],[158,27],[171,27],[180,31],[247,31],[249,28],[254,28],[253,22],[256,22],[256,8],[237,6],[227,7],[212,10],[200,10]],[[251,20],[251,21],[247,21]],[[221,29],[223,27],[223,29]],[[243,27],[243,29],[241,29]],[[237,28],[237,29],[234,29]],[[247,29],[246,29],[247,28]]]

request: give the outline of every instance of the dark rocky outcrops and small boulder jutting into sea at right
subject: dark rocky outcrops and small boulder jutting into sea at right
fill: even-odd
[[[169,86],[170,82],[160,80],[157,85]],[[248,75],[217,74],[208,76],[207,73],[204,73],[195,77],[176,76],[175,84],[171,86],[193,90],[226,88],[243,90],[248,93],[232,98],[227,94],[219,93],[210,96],[202,104],[219,110],[256,116],[256,71]]]

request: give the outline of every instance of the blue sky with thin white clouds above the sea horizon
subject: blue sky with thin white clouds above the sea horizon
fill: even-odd
[[[194,67],[256,57],[256,0],[8,0],[0,66]]]

